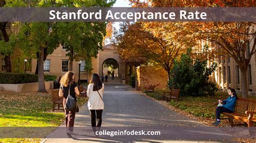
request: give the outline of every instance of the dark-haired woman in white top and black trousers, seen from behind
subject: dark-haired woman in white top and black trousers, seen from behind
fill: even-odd
[[[98,131],[102,125],[102,112],[104,109],[103,92],[104,84],[100,81],[99,75],[97,73],[92,74],[92,80],[87,88],[87,97],[89,97],[88,109],[91,115],[93,132]]]

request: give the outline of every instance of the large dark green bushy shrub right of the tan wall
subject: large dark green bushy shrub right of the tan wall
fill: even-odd
[[[217,65],[214,63],[208,68],[206,61],[192,60],[190,52],[191,49],[188,49],[186,54],[181,55],[180,61],[174,62],[169,88],[180,89],[181,96],[214,95],[218,89],[208,79]]]

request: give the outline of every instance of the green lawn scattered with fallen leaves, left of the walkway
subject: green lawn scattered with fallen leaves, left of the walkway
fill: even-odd
[[[78,98],[79,105],[87,98]],[[0,127],[57,127],[65,120],[64,112],[52,112],[51,95],[0,92]],[[49,134],[45,132],[45,135]],[[40,139],[0,139],[9,141],[39,141]]]

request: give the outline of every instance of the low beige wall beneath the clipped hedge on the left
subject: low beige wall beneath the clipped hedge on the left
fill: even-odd
[[[46,81],[45,89],[52,89],[53,82]],[[0,84],[0,87],[3,87],[5,91],[14,91],[14,92],[31,92],[38,91],[38,82],[33,83],[22,83],[22,84]]]

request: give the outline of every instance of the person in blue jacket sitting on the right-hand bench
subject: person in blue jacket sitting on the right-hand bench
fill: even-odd
[[[235,103],[237,103],[237,94],[235,90],[228,89],[228,98],[224,101],[219,99],[219,104],[216,108],[216,121],[212,123],[214,126],[218,126],[220,124],[220,114],[223,112],[232,113],[234,111]]]

